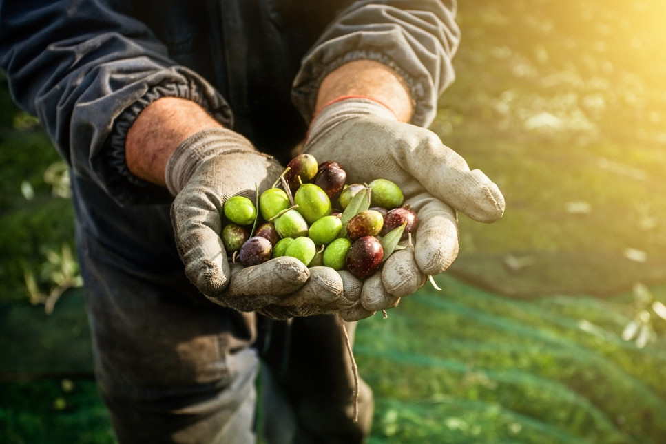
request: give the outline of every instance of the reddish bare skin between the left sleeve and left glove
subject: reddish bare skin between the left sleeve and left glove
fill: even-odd
[[[167,160],[180,142],[202,129],[222,127],[197,103],[164,97],[148,105],[125,140],[125,161],[134,176],[165,186]]]

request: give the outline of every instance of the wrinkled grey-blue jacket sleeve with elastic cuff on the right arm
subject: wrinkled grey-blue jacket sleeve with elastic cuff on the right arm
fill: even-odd
[[[326,74],[344,63],[371,59],[404,78],[415,103],[412,123],[427,127],[437,114],[437,99],[455,78],[451,59],[460,40],[456,10],[456,0],[356,1],[304,57],[293,103],[311,120]]]

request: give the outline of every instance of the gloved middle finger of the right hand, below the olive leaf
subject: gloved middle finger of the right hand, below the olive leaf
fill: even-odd
[[[388,257],[382,268],[382,283],[386,291],[395,297],[411,295],[426,283],[414,257],[413,247],[398,250]]]

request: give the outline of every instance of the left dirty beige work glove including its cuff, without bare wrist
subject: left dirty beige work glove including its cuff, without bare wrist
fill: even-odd
[[[165,178],[176,196],[171,221],[185,274],[208,299],[236,310],[279,319],[330,313],[342,293],[337,274],[311,273],[293,257],[247,268],[227,262],[220,238],[224,203],[235,195],[254,201],[256,187],[268,189],[282,171],[277,160],[229,129],[206,129],[178,145]]]

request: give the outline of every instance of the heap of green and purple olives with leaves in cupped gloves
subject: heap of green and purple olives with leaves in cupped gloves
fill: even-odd
[[[299,154],[257,202],[242,196],[225,202],[222,242],[244,266],[287,255],[364,279],[417,228],[416,213],[403,201],[390,180],[346,184],[337,162],[318,164]]]

